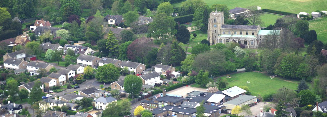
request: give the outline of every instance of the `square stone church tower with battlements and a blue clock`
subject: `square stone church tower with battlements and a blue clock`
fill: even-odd
[[[217,12],[216,10],[209,14],[209,23],[208,23],[208,41],[210,45],[214,45],[215,40],[218,35],[221,34],[220,29],[221,25],[224,24],[224,12]]]

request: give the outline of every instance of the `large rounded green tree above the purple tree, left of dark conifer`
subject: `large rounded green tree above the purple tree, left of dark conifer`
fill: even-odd
[[[150,23],[149,33],[147,37],[155,39],[166,39],[176,34],[176,22],[171,16],[165,13],[159,13],[154,17],[153,22]]]

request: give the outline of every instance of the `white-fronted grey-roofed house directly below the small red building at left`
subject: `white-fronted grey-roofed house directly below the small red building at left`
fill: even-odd
[[[37,72],[39,69],[45,69],[47,72],[54,67],[53,65],[41,62],[30,61],[27,64],[27,71],[30,72],[30,75],[39,75]]]

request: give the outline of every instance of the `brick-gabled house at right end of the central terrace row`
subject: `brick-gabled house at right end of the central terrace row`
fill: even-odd
[[[130,72],[133,72],[131,74],[142,74],[143,71],[146,69],[146,65],[138,62],[132,62],[132,61],[124,61],[120,68],[127,67]]]

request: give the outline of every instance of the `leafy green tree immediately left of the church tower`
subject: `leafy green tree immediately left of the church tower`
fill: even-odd
[[[208,19],[212,9],[208,5],[201,5],[193,14],[193,26],[202,32],[208,31]]]

